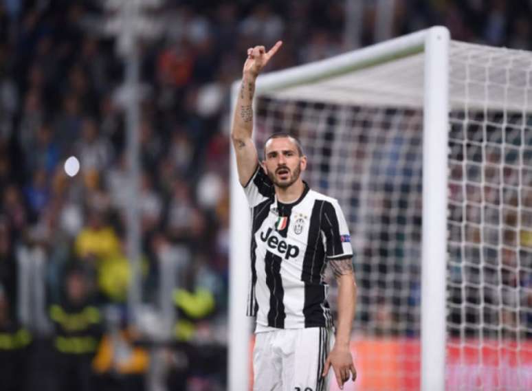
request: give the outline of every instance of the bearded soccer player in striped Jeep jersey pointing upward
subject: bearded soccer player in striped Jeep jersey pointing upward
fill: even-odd
[[[252,142],[255,81],[278,51],[247,50],[236,102],[232,142],[239,181],[252,208],[252,280],[247,314],[256,316],[254,390],[329,390],[332,366],[338,385],[356,370],[349,349],[356,284],[348,227],[337,201],[309,188],[300,142],[271,135],[264,160]],[[338,282],[336,335],[324,269]]]

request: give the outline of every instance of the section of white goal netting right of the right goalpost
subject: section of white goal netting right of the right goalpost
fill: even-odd
[[[532,390],[532,54],[454,43],[452,66],[448,388]]]

